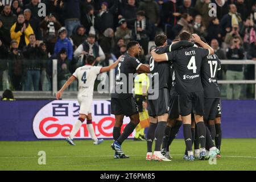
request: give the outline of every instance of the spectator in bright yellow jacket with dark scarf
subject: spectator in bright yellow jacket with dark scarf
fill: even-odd
[[[11,39],[16,40],[19,45],[19,49],[26,46],[30,40],[28,36],[34,34],[34,31],[28,22],[25,22],[25,17],[23,14],[19,14],[18,20],[11,27]]]

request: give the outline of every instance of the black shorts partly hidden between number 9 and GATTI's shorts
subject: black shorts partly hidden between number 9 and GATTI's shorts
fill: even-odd
[[[169,119],[179,118],[179,97],[177,92],[170,92],[170,103],[169,103]]]

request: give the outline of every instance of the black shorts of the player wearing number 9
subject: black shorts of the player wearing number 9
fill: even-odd
[[[155,100],[150,100],[151,94],[148,94],[147,99],[147,110],[148,115],[151,117],[156,117],[168,113],[168,102],[169,102],[169,93],[167,88],[159,89],[158,98]]]

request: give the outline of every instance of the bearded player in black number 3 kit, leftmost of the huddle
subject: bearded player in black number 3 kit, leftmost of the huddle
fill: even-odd
[[[111,144],[115,150],[115,159],[129,158],[123,151],[121,144],[129,137],[139,123],[138,106],[133,97],[133,78],[134,73],[150,73],[150,68],[142,64],[136,57],[141,53],[141,47],[136,41],[127,43],[127,53],[119,60],[115,86],[111,95],[111,114],[115,115],[113,128],[114,142]],[[121,134],[123,117],[130,117],[130,123],[125,127]]]

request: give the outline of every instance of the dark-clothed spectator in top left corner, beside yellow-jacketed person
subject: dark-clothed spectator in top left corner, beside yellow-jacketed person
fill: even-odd
[[[2,19],[3,25],[7,30],[11,29],[11,26],[15,23],[17,16],[11,13],[11,6],[5,5],[2,14],[0,15],[0,19]]]

